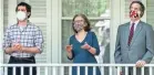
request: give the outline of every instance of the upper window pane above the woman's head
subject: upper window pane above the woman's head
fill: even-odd
[[[109,9],[110,0],[62,0],[62,17],[73,17],[76,13],[102,17],[103,13],[110,12]]]

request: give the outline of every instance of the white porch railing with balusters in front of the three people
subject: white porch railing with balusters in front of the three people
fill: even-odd
[[[85,75],[88,75],[88,67],[93,66],[93,75],[95,74],[95,67],[100,67],[102,75],[104,75],[104,67],[109,67],[109,75],[120,75],[121,67],[124,67],[125,75],[129,75],[129,67],[133,67],[133,75],[136,75],[135,64],[0,64],[0,69],[2,69],[1,75],[8,75],[8,67],[13,67],[13,75],[16,75],[16,67],[21,67],[21,75],[23,75],[23,67],[30,67],[30,75],[32,75],[32,67],[37,67],[37,75],[64,75],[65,67],[69,67],[68,74],[72,75],[72,66],[78,67],[78,75],[80,75],[80,66],[85,66]],[[43,67],[43,69],[41,69]],[[141,67],[141,74],[144,75],[144,68],[148,67],[150,75],[154,75],[153,67],[154,64],[146,64]],[[41,74],[41,71],[42,74]]]

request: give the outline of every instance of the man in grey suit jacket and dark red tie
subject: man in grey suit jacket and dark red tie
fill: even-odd
[[[144,10],[141,1],[131,3],[131,22],[119,26],[114,53],[115,63],[136,64],[136,75],[141,75],[140,67],[148,64],[154,54],[154,31],[152,25],[141,21]],[[148,75],[148,69],[145,68],[144,73]],[[129,75],[133,75],[132,67],[129,68]]]

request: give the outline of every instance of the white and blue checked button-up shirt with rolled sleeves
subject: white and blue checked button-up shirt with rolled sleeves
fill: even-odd
[[[43,35],[41,30],[31,22],[28,22],[23,30],[21,30],[18,24],[13,24],[6,30],[3,50],[6,51],[7,47],[11,47],[13,43],[20,43],[24,47],[38,47],[42,52]],[[16,57],[30,57],[34,54],[13,52],[10,55]]]

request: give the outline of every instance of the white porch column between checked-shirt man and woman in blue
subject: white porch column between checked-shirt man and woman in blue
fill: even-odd
[[[51,3],[51,61],[52,63],[61,62],[61,12],[60,12],[61,0],[52,0]],[[50,50],[49,50],[50,51]]]

